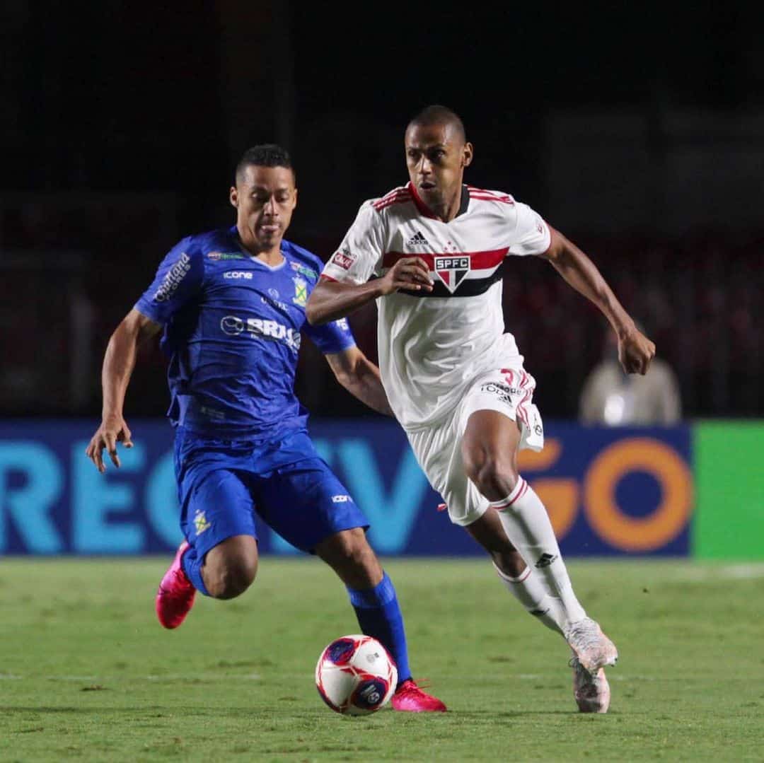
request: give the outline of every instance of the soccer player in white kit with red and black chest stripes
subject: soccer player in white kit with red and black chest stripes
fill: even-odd
[[[405,136],[410,182],[361,205],[307,305],[312,324],[372,299],[380,371],[448,516],[482,545],[510,593],[573,652],[585,713],[605,713],[604,667],[617,650],[575,596],[549,516],[517,469],[520,448],[543,447],[533,377],[504,332],[502,276],[510,257],[544,257],[605,315],[627,373],[645,373],[655,345],[589,258],[507,193],[465,186],[473,157],[461,119],[428,106]]]

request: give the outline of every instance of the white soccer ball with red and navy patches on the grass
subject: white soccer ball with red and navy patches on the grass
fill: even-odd
[[[322,700],[348,716],[367,716],[393,696],[398,669],[377,639],[347,635],[322,651],[316,664],[316,687]]]

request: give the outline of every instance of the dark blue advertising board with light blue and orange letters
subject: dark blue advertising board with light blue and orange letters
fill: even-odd
[[[134,448],[99,474],[85,455],[95,421],[0,422],[0,553],[169,553],[181,540],[173,430],[131,420]],[[441,502],[400,427],[387,419],[312,422],[316,447],[364,509],[380,555],[483,553]],[[520,471],[549,509],[562,552],[688,554],[691,438],[673,428],[551,422]],[[262,523],[261,551],[296,551]]]

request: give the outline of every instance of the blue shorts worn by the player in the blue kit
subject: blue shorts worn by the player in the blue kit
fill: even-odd
[[[202,556],[232,535],[257,538],[254,512],[302,551],[369,526],[304,430],[276,441],[231,441],[178,428],[175,476],[180,529]]]

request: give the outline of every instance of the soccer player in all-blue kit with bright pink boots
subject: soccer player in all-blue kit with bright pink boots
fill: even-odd
[[[345,583],[361,630],[397,663],[393,707],[445,710],[411,677],[403,616],[367,542],[367,519],[313,448],[307,412],[294,394],[304,331],[343,386],[392,415],[379,370],[356,347],[347,322],[317,328],[306,322],[323,264],[283,239],[297,202],[289,154],[272,144],[249,149],[230,199],[236,225],[173,247],[112,335],[102,370],[102,422],[86,453],[103,472],[104,448],[119,467],[117,443],[132,447],[125,392],[138,344],[162,331],[186,537],[157,593],[162,625],[180,626],[197,590],[216,599],[247,590],[257,571],[257,512]]]

